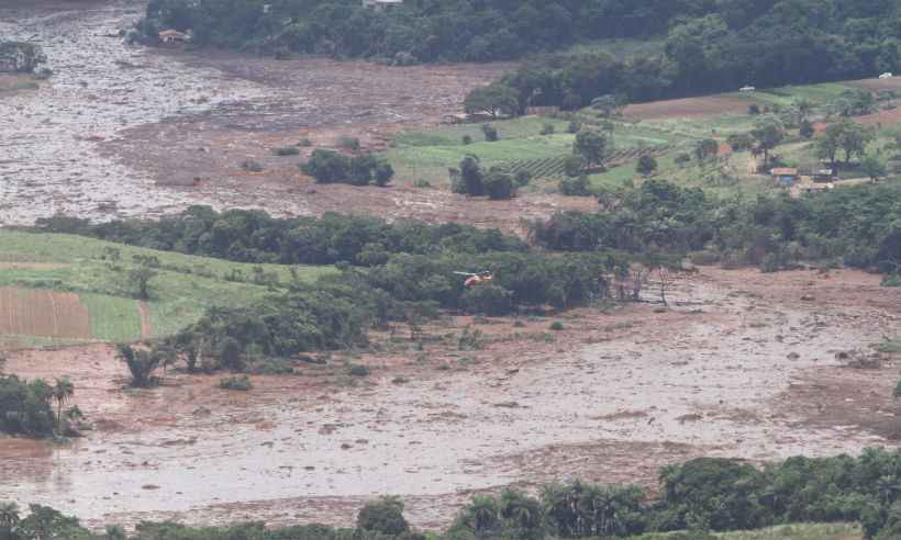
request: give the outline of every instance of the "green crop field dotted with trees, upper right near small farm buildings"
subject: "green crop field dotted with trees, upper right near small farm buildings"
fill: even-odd
[[[603,44],[597,44],[602,46]],[[625,48],[635,44],[623,44]],[[594,44],[580,47],[594,47]],[[766,108],[786,108],[797,100],[807,100],[813,105],[811,119],[823,120],[825,105],[853,87],[843,83],[822,83],[760,89],[755,92],[732,92],[724,97],[746,100],[748,105],[757,103]],[[580,111],[576,117],[583,125],[599,121],[590,109]],[[608,171],[590,177],[594,189],[641,181],[635,173],[637,156],[622,154],[636,148],[654,148],[657,156],[659,178],[666,178],[686,185],[701,187],[723,195],[756,195],[780,189],[766,177],[752,175],[750,156],[747,153],[732,155],[714,164],[679,166],[674,158],[679,154],[691,154],[694,144],[704,138],[724,142],[734,133],[748,133],[758,116],[747,113],[724,113],[711,116],[644,120],[636,123],[615,122],[613,138],[619,158]],[[567,133],[568,120],[526,116],[492,122],[500,134],[500,140],[488,143],[480,124],[440,126],[425,132],[409,132],[397,136],[386,156],[391,161],[398,178],[402,181],[446,189],[448,168],[457,168],[466,155],[479,158],[482,167],[501,166],[512,172],[527,170],[535,177],[524,191],[555,191],[563,177],[564,160],[571,155],[574,135]],[[541,135],[545,125],[554,127],[554,134]],[[868,148],[870,153],[883,154],[894,126],[879,131],[879,138]],[[464,145],[468,135],[472,144]],[[778,147],[775,155],[789,167],[815,167],[819,162],[810,142],[799,142],[798,133],[789,132],[790,140]],[[793,140],[791,140],[793,137]],[[649,150],[645,150],[649,151]],[[858,177],[856,171],[846,171],[844,177]]]

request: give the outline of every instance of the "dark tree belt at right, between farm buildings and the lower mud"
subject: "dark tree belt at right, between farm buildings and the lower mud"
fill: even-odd
[[[649,179],[604,189],[596,214],[560,212],[530,224],[531,240],[564,251],[691,254],[707,262],[776,271],[832,261],[894,273],[901,221],[894,185],[858,185],[793,199],[714,199],[698,188]]]

